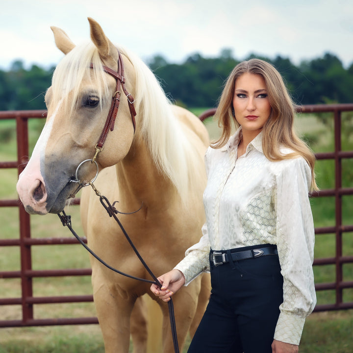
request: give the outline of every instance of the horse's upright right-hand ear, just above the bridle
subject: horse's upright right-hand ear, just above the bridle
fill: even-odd
[[[118,51],[112,42],[106,37],[101,26],[92,18],[88,17],[88,22],[91,27],[91,39],[97,47],[100,57],[103,61],[113,59],[116,63],[118,61]]]

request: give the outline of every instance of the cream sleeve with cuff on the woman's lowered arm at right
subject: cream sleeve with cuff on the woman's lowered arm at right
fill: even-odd
[[[283,303],[275,339],[299,345],[305,318],[316,304],[312,263],[314,226],[308,199],[311,172],[303,158],[285,163],[277,175],[277,249]]]

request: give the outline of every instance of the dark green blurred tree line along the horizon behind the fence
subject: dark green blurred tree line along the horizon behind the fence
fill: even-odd
[[[247,59],[259,57],[250,55]],[[332,53],[294,65],[289,58],[259,57],[272,63],[284,77],[296,104],[353,102],[353,63],[346,69]],[[157,76],[167,96],[185,107],[215,107],[225,80],[240,61],[231,50],[207,58],[195,53],[181,64],[169,63],[155,55],[147,64]],[[21,60],[8,71],[0,70],[0,110],[45,109],[44,95],[50,86],[54,67],[32,65],[25,69]]]

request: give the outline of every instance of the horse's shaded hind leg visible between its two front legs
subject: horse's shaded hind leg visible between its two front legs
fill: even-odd
[[[137,298],[130,320],[133,353],[147,352],[147,311],[146,298],[144,296]]]

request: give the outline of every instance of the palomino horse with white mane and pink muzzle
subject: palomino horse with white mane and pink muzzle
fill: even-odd
[[[17,190],[27,212],[59,213],[75,193],[77,184],[72,181],[77,172],[86,183],[99,168],[94,185],[102,195],[118,201],[119,211],[131,213],[141,208],[121,214],[119,219],[151,271],[159,276],[172,269],[202,235],[203,155],[208,134],[197,117],[168,101],[140,59],[117,49],[101,26],[88,20],[91,41],[81,46],[52,27],[56,46],[65,56],[45,97],[46,125],[19,177]],[[127,91],[127,99],[122,95],[115,125],[113,119],[104,133],[104,148],[95,150],[113,104],[111,97],[113,101],[120,98],[117,80],[107,70],[121,72],[123,64],[125,73],[120,80],[125,82],[122,89]],[[97,165],[92,162],[95,152]],[[83,163],[78,171],[78,165],[87,159],[91,163]],[[91,187],[82,191],[81,219],[89,247],[105,262],[130,275],[151,279]],[[150,284],[111,272],[94,258],[91,265],[105,351],[126,353],[130,326],[137,325],[130,323],[133,306],[145,293],[151,296]],[[180,347],[187,332],[193,334],[199,324],[209,291],[206,275],[173,297]],[[163,352],[173,352],[167,305],[158,303],[163,313]],[[134,341],[134,350],[145,352],[144,344],[135,345]]]

